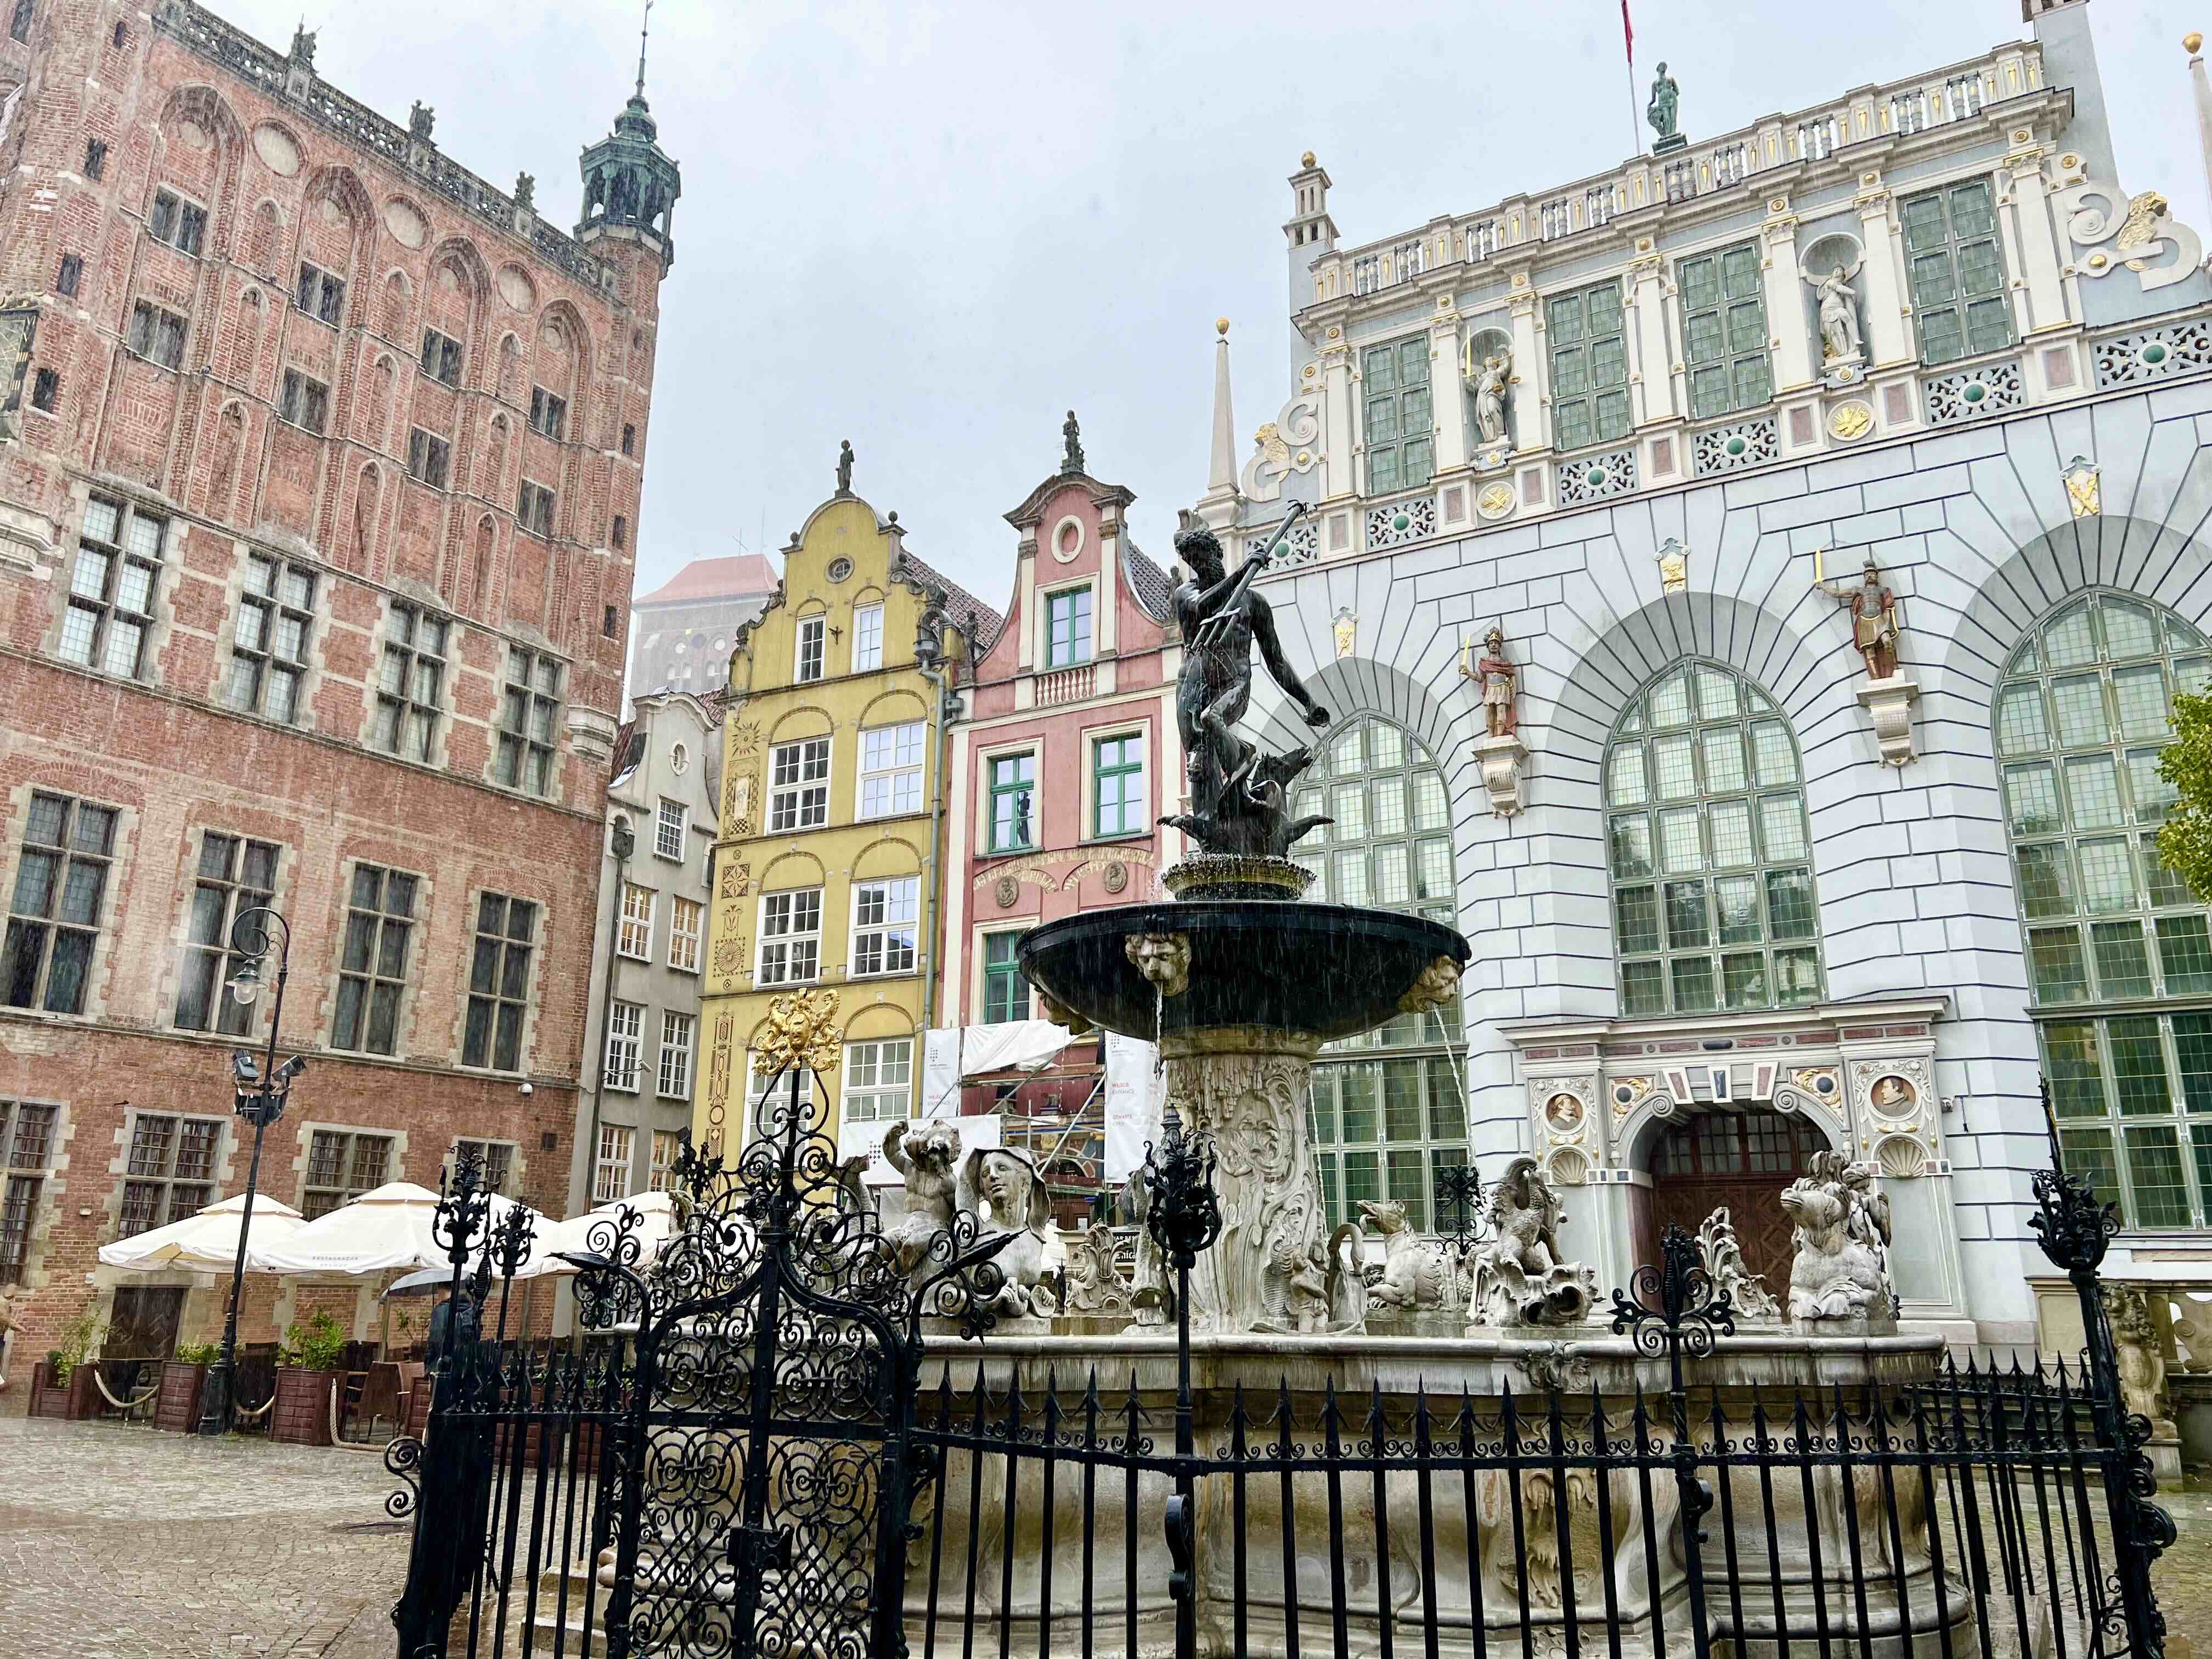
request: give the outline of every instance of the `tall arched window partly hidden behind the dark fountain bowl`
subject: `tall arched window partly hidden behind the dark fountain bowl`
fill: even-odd
[[[1429,752],[1398,726],[1363,719],[1305,774],[1296,814],[1336,823],[1298,843],[1314,902],[1398,909],[1455,925],[1451,799]],[[1467,1164],[1460,1002],[1398,1015],[1329,1044],[1314,1066],[1314,1146],[1329,1221],[1358,1199],[1396,1199],[1427,1228],[1436,1170]]]

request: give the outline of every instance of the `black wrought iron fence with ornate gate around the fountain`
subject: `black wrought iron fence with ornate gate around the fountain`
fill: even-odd
[[[1181,1287],[1208,1152],[1170,1121],[1148,1179]],[[467,1312],[389,1453],[400,1655],[2161,1659],[2117,1223],[2037,1197],[2079,1367],[1869,1336],[1816,1374],[1679,1232],[1551,1343],[1208,1336],[1181,1294],[1172,1336],[991,1334],[1004,1234],[885,1234],[794,1086],[737,1166],[686,1161],[650,1267],[624,1228],[575,1259],[595,1336],[524,1352],[529,1239],[465,1161]]]

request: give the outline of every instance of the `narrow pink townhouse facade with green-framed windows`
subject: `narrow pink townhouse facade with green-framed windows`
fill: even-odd
[[[1181,852],[1157,823],[1181,801],[1172,588],[1128,540],[1133,500],[1084,471],[1071,436],[1062,469],[1006,513],[1006,626],[953,728],[942,1024],[1033,1018],[1013,942],[1146,896]]]

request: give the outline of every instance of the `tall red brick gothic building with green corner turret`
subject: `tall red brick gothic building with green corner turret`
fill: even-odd
[[[210,1332],[95,1250],[243,1188],[221,995],[292,929],[261,1186],[456,1141],[560,1212],[679,179],[639,93],[575,234],[190,0],[0,7],[0,1285],[18,1365]],[[254,1287],[246,1336],[356,1287]],[[367,1325],[367,1298],[356,1310]],[[22,1391],[11,1389],[13,1405]]]

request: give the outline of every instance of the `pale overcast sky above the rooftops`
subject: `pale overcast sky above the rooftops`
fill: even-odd
[[[212,0],[285,46],[301,0]],[[2017,0],[1632,0],[1694,139],[2022,38]],[[630,91],[639,4],[307,0],[319,73],[557,223]],[[2212,230],[2181,35],[2212,0],[2090,0],[2126,190]],[[646,95],[684,166],[637,555],[772,551],[834,487],[1004,606],[1000,518],[1060,460],[1137,493],[1166,562],[1206,489],[1214,316],[1239,460],[1287,392],[1285,175],[1347,243],[1619,164],[1619,0],[856,4],[657,0]],[[1637,144],[1650,135],[1637,122]],[[2115,279],[2119,281],[2119,279]],[[765,535],[763,535],[765,533]]]

